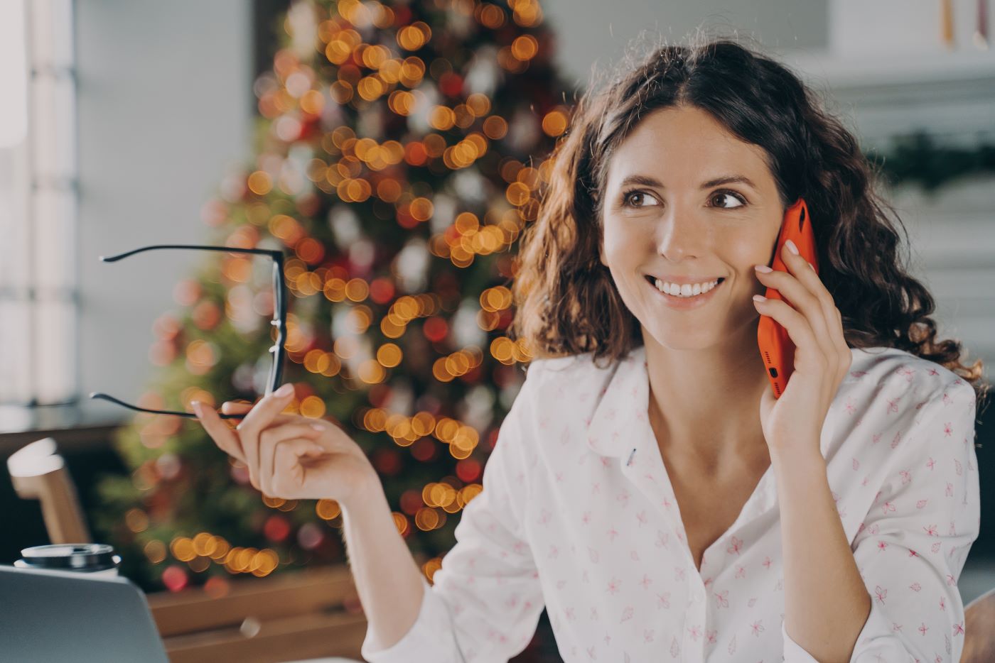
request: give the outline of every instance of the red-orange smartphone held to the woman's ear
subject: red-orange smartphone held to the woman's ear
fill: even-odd
[[[781,235],[777,238],[777,249],[774,249],[774,259],[768,265],[772,269],[780,269],[790,273],[784,260],[781,259],[781,251],[784,243],[791,240],[798,247],[798,252],[815,267],[815,272],[819,273],[819,259],[815,250],[815,235],[812,233],[812,221],[809,218],[808,207],[805,200],[799,198],[784,212],[784,220],[781,222]],[[764,296],[768,299],[780,299],[784,301],[781,293],[774,288],[767,288]],[[760,323],[756,329],[756,342],[760,347],[760,357],[763,358],[763,365],[767,369],[767,379],[774,390],[774,398],[781,398],[784,388],[788,385],[788,378],[795,367],[795,344],[791,342],[788,331],[780,323],[767,315],[760,316]]]

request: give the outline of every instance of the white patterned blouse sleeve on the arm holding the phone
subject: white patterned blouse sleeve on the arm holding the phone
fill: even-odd
[[[931,399],[854,539],[871,613],[852,662],[959,661],[957,579],[981,518],[974,390],[957,381]],[[781,623],[786,663],[816,663]]]

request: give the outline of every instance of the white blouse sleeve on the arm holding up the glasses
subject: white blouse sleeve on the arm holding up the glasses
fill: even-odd
[[[360,653],[370,663],[506,663],[532,639],[542,590],[522,526],[528,501],[523,417],[534,408],[533,367],[501,422],[484,469],[483,490],[463,510],[456,544],[435,573],[411,629],[375,651],[367,630]]]

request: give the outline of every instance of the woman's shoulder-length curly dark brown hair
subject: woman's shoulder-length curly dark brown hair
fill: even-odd
[[[618,146],[641,118],[675,106],[704,110],[762,147],[782,206],[804,197],[819,211],[812,225],[819,275],[850,347],[898,348],[940,364],[971,384],[980,408],[990,387],[982,362],[967,367],[958,341],[936,340],[933,298],[899,259],[896,228],[904,227],[875,191],[880,170],[794,73],[737,38],[658,46],[600,93],[582,94],[515,257],[512,340],[534,359],[590,352],[595,361],[643,344],[638,320],[599,261],[602,201]]]

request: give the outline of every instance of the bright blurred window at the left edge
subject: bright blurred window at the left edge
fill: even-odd
[[[4,426],[79,392],[72,0],[0,3],[0,89]]]

